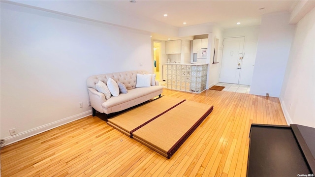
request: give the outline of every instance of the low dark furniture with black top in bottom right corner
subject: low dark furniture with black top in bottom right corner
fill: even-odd
[[[247,177],[314,177],[315,128],[252,124]]]

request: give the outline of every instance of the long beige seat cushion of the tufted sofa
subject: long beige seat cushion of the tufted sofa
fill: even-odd
[[[154,87],[143,87],[143,88],[136,88],[136,89],[130,89],[128,90],[128,93],[126,94],[120,94],[117,97],[111,97],[109,100],[104,102],[102,104],[102,107],[104,108],[110,108],[131,100],[134,100],[136,98],[139,98],[141,96],[156,92],[158,90],[162,90],[162,86],[154,86]]]

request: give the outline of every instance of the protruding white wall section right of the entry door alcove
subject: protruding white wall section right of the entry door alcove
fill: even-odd
[[[294,26],[289,13],[263,15],[252,75],[251,94],[279,97]]]

